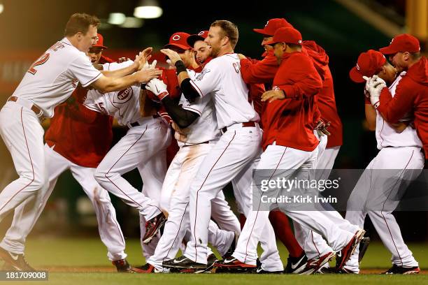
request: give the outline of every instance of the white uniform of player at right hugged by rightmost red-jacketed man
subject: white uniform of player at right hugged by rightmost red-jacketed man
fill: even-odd
[[[392,96],[405,72],[389,87]],[[348,199],[346,219],[364,226],[367,214],[385,247],[391,252],[391,261],[404,267],[418,266],[412,252],[401,236],[392,212],[399,204],[400,193],[415,180],[424,168],[422,142],[411,126],[395,131],[376,110],[376,140],[380,152],[369,163]],[[361,205],[366,205],[364,209]],[[359,272],[358,249],[345,268]]]

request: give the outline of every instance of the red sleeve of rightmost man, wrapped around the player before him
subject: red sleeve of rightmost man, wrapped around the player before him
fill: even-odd
[[[390,90],[384,88],[380,93],[380,105],[378,111],[382,117],[390,123],[396,123],[404,117],[407,112],[410,112],[413,107],[415,92],[410,87],[406,87],[404,79],[397,85],[395,95],[392,97]]]

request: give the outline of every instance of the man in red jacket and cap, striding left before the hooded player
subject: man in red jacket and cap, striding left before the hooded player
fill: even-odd
[[[268,181],[276,177],[299,177],[300,180],[311,178],[309,169],[315,168],[319,141],[315,138],[311,124],[313,122],[313,96],[322,87],[320,75],[315,70],[311,58],[301,52],[301,34],[293,28],[277,29],[273,40],[266,43],[273,45],[274,54],[280,62],[280,67],[273,80],[273,90],[262,96],[268,101],[264,112],[264,148],[261,160],[257,165],[263,178]],[[282,101],[283,100],[283,101]],[[290,115],[298,113],[299,115]],[[301,119],[305,118],[306,122]],[[302,126],[303,124],[303,126]],[[288,136],[287,131],[292,130],[294,136]],[[263,172],[264,170],[264,172]],[[257,172],[256,172],[257,175]],[[257,181],[257,180],[256,180]],[[278,197],[279,189],[274,189],[274,197]],[[304,191],[309,189],[304,189]],[[303,190],[300,190],[303,191]],[[304,192],[301,192],[304,193]],[[259,209],[262,200],[257,200]],[[364,230],[345,222],[339,214],[330,211],[320,212],[313,207],[312,211],[299,208],[299,205],[278,203],[281,211],[297,221],[302,226],[320,233],[329,242],[336,257],[336,267],[342,268],[345,261],[364,235]],[[215,263],[215,267],[229,268],[245,264],[255,264],[257,258],[258,238],[262,234],[264,220],[268,211],[252,211],[245,223],[238,245],[232,256]],[[339,227],[339,226],[340,227]],[[249,236],[246,236],[249,235]],[[248,240],[248,242],[241,242]],[[250,246],[248,246],[250,244]],[[331,251],[319,258],[308,261],[305,272],[318,270],[324,263],[330,261],[335,252]]]

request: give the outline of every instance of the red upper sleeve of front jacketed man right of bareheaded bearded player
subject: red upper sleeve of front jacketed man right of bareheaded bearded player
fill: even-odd
[[[302,60],[304,59],[304,60]],[[316,71],[311,59],[305,57],[293,57],[287,61],[291,78],[301,78],[293,84],[279,85],[285,93],[285,98],[301,99],[314,96],[322,89],[322,80]]]

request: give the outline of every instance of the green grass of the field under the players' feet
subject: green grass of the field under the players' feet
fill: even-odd
[[[427,244],[408,244],[421,268],[428,268]],[[287,251],[278,244],[284,264]],[[128,261],[133,265],[144,264],[138,240],[127,240]],[[69,267],[78,271],[105,270],[113,266],[106,257],[106,248],[101,241],[91,238],[31,239],[27,242],[26,258],[36,268]],[[362,261],[362,268],[389,268],[390,254],[378,242],[370,244]],[[71,270],[73,271],[73,270]],[[380,276],[380,275],[129,275],[115,272],[50,272],[49,282],[36,284],[428,284],[428,275]],[[25,282],[31,284],[33,282]],[[15,283],[18,284],[18,283]]]

